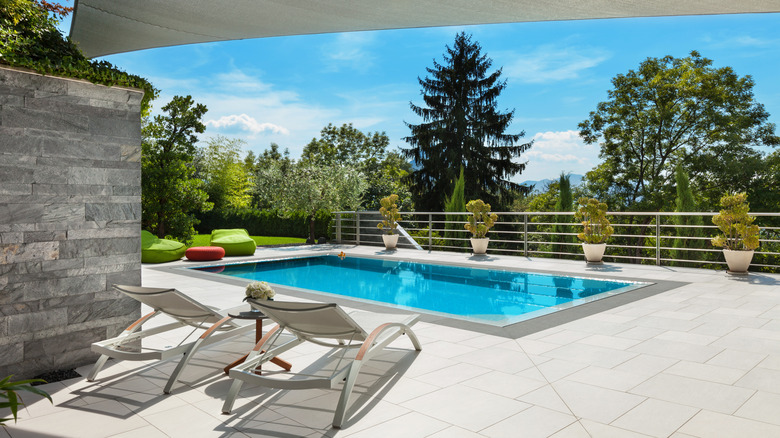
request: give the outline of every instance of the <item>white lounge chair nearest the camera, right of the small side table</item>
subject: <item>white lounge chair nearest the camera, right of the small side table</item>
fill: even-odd
[[[233,403],[244,382],[274,389],[333,389],[344,381],[344,387],[341,390],[341,396],[333,416],[333,427],[341,428],[352,388],[363,363],[404,334],[409,336],[415,350],[422,349],[417,336],[411,330],[411,326],[420,319],[420,315],[369,312],[347,314],[333,303],[255,301],[251,299],[248,301],[279,325],[266,333],[263,339],[255,345],[246,362],[230,370],[229,376],[234,381],[225,399],[225,404],[222,406],[222,412],[225,414],[229,414],[233,409]],[[371,320],[374,323],[370,322]],[[361,321],[361,323],[357,321]],[[376,323],[377,321],[378,323]],[[294,339],[275,345],[285,330],[294,335]],[[359,348],[360,350],[354,359],[346,359],[346,365],[339,367],[345,359],[342,356],[339,359],[339,365],[335,367],[330,376],[283,373],[274,377],[274,375],[265,374],[265,371],[263,371],[263,375],[258,375],[255,372],[258,365],[306,341],[336,349]],[[280,378],[289,376],[292,378]]]

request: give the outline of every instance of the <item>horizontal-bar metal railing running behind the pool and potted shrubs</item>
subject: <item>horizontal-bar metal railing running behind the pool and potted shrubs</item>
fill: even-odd
[[[401,212],[399,222],[429,251],[469,252],[471,234],[464,229],[471,213]],[[534,257],[581,259],[573,212],[496,212],[488,251]],[[609,212],[615,233],[607,243],[605,261],[718,269],[725,267],[722,251],[710,239],[715,212]],[[780,213],[750,213],[761,227],[760,246],[751,270],[780,272]],[[334,212],[336,241],[382,245],[382,218],[377,211]],[[698,223],[686,223],[686,218]],[[399,247],[409,247],[399,241]]]

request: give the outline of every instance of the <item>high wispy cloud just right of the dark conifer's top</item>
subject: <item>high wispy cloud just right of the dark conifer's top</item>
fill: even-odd
[[[539,46],[525,53],[502,54],[504,74],[526,83],[545,83],[578,79],[588,69],[609,59],[606,51],[587,47]]]

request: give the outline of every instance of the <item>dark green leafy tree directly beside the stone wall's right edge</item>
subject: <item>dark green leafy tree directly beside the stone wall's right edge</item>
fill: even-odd
[[[194,177],[196,134],[206,127],[200,119],[206,106],[191,96],[175,96],[142,129],[142,225],[158,237],[187,241],[195,234],[196,212],[213,207],[203,181]]]

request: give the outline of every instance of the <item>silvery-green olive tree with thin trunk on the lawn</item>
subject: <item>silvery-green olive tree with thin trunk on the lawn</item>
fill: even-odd
[[[309,243],[314,243],[314,216],[320,210],[356,210],[366,190],[365,177],[346,166],[315,166],[292,163],[286,170],[281,162],[260,169],[257,174],[260,197],[290,215],[304,211],[309,216]]]

